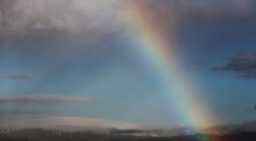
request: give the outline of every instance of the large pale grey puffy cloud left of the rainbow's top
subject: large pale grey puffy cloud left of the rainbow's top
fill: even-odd
[[[113,0],[2,0],[0,40],[98,36],[118,27]]]

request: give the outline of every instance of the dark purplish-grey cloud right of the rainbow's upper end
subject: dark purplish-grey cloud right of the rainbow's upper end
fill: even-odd
[[[204,37],[204,40],[207,40],[206,43],[211,44],[215,41],[209,37],[210,32],[217,31],[218,36],[215,38],[222,43],[225,39],[228,40],[234,36],[240,38],[240,36],[250,34],[246,29],[243,32],[241,27],[250,28],[256,23],[254,18],[256,3],[251,0],[225,1],[225,3],[201,0],[137,0],[132,2],[145,7],[148,13],[155,14],[158,26],[167,35],[172,36],[177,33],[181,34],[181,38],[200,36],[201,42],[204,42],[202,41]],[[224,32],[221,32],[223,29]],[[197,35],[197,32],[205,32],[205,34],[203,33],[202,37],[202,35]],[[182,40],[184,42],[186,39]]]

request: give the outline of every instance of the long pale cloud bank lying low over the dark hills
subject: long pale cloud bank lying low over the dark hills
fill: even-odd
[[[178,128],[183,125],[154,125],[154,124],[138,124],[121,121],[113,121],[97,118],[82,118],[82,117],[50,117],[41,119],[29,119],[18,121],[0,121],[2,127],[61,127],[67,130],[80,130],[86,127],[99,128],[119,128],[119,129],[153,129],[153,128]]]

